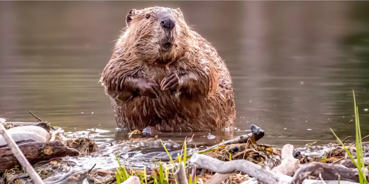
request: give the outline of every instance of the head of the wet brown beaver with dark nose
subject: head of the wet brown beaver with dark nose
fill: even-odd
[[[125,47],[139,59],[166,64],[186,52],[189,27],[179,8],[131,10],[126,17]]]

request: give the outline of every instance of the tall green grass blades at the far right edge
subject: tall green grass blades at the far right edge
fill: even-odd
[[[331,128],[332,133],[337,138],[338,142],[342,145],[342,147],[345,149],[347,154],[349,155],[350,159],[352,160],[352,163],[354,163],[355,167],[358,168],[359,172],[359,182],[360,184],[368,184],[368,181],[366,180],[365,176],[365,165],[364,165],[364,156],[363,156],[363,146],[362,146],[362,140],[361,140],[361,132],[360,132],[360,122],[359,122],[359,113],[358,113],[358,106],[356,106],[356,99],[355,99],[355,92],[352,90],[352,95],[354,96],[354,112],[355,112],[355,131],[356,131],[356,160],[352,157],[351,153],[348,151],[344,143],[341,141],[341,139],[338,138],[338,136],[334,133],[334,131]]]

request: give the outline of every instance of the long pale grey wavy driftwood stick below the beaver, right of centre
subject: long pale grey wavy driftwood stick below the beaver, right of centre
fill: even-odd
[[[273,173],[272,171],[266,170],[248,160],[232,160],[224,162],[207,155],[194,153],[190,162],[221,174],[242,171],[265,184],[288,184],[292,178],[287,175]]]

